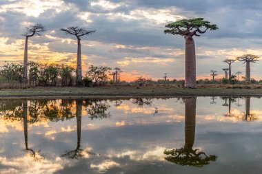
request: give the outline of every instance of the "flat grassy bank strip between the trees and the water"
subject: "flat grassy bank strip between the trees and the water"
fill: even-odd
[[[201,87],[37,87],[30,89],[1,89],[1,98],[101,98],[101,97],[161,97],[161,96],[262,96],[262,89],[232,89]]]

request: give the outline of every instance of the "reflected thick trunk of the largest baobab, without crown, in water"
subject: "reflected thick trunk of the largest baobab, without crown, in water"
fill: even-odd
[[[192,149],[196,127],[196,98],[185,98],[185,149]]]

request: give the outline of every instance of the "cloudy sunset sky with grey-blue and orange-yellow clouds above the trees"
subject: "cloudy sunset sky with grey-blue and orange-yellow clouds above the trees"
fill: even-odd
[[[196,76],[211,78],[210,70],[223,76],[225,58],[242,54],[262,56],[262,1],[259,0],[1,0],[0,65],[22,62],[25,28],[46,25],[43,36],[29,39],[29,61],[68,63],[77,61],[77,39],[59,29],[80,26],[96,30],[81,40],[83,72],[90,65],[120,67],[121,80],[138,76],[154,80],[184,76],[182,36],[164,34],[167,23],[203,17],[218,25],[194,39]],[[262,79],[262,63],[251,64],[251,76]],[[241,62],[232,73],[243,72]]]

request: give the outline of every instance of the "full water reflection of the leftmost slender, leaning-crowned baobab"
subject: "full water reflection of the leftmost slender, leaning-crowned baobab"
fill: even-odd
[[[28,148],[28,100],[22,101],[23,105],[23,134],[25,137],[25,151],[30,152],[30,156],[34,158],[34,161],[41,161],[43,160],[43,155],[40,154],[39,151],[34,151],[33,149]]]

